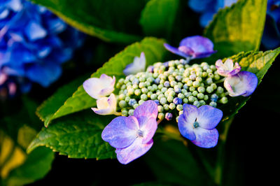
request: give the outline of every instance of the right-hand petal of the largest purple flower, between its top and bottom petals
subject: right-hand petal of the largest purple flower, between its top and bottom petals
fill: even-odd
[[[142,143],[148,143],[153,136],[155,135],[155,131],[158,129],[157,120],[154,117],[140,117],[138,119],[140,130],[143,131],[143,141]]]

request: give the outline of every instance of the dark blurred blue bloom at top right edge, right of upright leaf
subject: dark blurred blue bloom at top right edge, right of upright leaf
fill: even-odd
[[[267,17],[262,44],[267,49],[274,49],[280,45],[280,0],[267,2]]]

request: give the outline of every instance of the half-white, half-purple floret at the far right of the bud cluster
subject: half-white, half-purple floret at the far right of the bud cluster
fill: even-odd
[[[254,73],[241,71],[234,76],[225,78],[224,87],[230,96],[250,96],[258,85],[258,78]]]

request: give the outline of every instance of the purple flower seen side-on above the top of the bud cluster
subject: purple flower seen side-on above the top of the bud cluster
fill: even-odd
[[[212,41],[203,36],[190,36],[183,38],[179,44],[179,48],[174,48],[167,43],[164,45],[170,52],[186,57],[186,59],[209,57],[216,52],[213,50],[214,45]]]

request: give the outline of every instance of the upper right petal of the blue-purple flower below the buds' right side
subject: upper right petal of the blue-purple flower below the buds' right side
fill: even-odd
[[[204,129],[214,129],[223,117],[222,110],[212,106],[198,108],[197,122]]]

